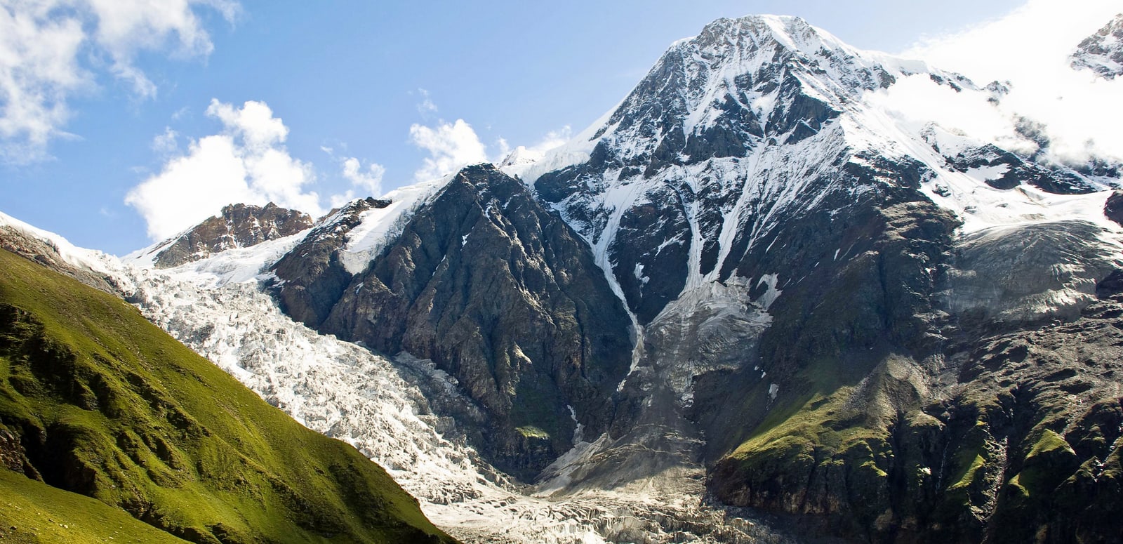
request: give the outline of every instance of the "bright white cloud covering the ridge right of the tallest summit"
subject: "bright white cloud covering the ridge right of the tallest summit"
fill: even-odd
[[[1011,92],[999,107],[1007,119],[1004,138],[1019,138],[1012,121],[1024,117],[1044,125],[1048,152],[1056,160],[1121,160],[1123,79],[1107,81],[1072,70],[1068,58],[1080,40],[1120,11],[1117,0],[1030,0],[1005,17],[925,40],[904,55],[961,72],[979,84],[1008,81]]]

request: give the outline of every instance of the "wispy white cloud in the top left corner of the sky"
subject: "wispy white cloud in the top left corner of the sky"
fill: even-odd
[[[152,97],[138,53],[209,54],[199,7],[228,20],[238,10],[229,0],[0,0],[0,158],[45,158],[47,144],[66,136],[67,100],[94,88],[99,71]]]

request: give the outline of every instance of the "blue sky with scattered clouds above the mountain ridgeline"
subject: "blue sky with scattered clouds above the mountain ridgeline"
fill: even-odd
[[[902,52],[1023,3],[166,0],[140,17],[133,1],[42,0],[29,15],[27,2],[0,0],[0,53],[62,58],[0,61],[0,121],[10,121],[0,123],[0,211],[113,254],[227,196],[289,194],[322,211],[462,156],[497,158],[504,142],[579,132],[670,42],[719,17],[797,15],[853,46]],[[6,33],[17,19],[35,39]],[[44,29],[57,31],[35,34]],[[28,93],[10,85],[35,70],[46,75],[30,88],[54,109],[33,134],[13,125]],[[246,171],[240,189],[192,182],[225,167],[207,161],[230,149]],[[295,181],[268,187],[285,176]]]

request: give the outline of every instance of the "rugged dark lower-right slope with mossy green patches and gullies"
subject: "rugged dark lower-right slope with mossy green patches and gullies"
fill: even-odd
[[[1106,513],[1123,500],[1120,315],[1099,301],[1071,323],[952,341],[929,360],[944,365],[943,398],[913,374],[924,364],[883,355],[844,396],[804,406],[806,442],[750,438],[711,488],[877,542],[1110,542],[1121,525]]]

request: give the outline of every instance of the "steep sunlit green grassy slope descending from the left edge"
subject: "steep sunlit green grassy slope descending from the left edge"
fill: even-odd
[[[354,447],[124,301],[4,251],[0,463],[192,542],[450,541]]]

